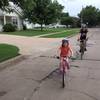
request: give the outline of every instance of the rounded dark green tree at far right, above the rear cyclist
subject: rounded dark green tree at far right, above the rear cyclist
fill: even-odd
[[[96,26],[97,25],[97,13],[98,9],[96,9],[93,6],[87,6],[86,8],[83,8],[80,14],[78,15],[81,19],[83,19],[83,23],[88,22],[88,26]]]

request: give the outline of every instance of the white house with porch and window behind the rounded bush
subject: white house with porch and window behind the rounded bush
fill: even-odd
[[[11,8],[13,9],[13,12],[10,13],[0,10],[0,31],[2,31],[3,26],[8,23],[16,25],[18,30],[22,29],[20,12],[18,12],[15,5],[11,5]]]

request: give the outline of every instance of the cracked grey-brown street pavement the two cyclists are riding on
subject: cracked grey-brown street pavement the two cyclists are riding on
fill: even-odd
[[[61,39],[50,39],[38,56],[33,49],[28,59],[0,71],[0,100],[100,100],[100,29],[90,29],[82,61],[76,39],[70,38],[76,60],[70,62],[65,89],[56,70],[59,60],[49,57],[56,54]]]

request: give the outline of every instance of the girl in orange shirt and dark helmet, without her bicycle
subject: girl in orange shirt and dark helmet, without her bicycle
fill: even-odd
[[[68,39],[62,40],[62,45],[60,46],[59,51],[60,51],[60,69],[61,69],[61,71],[62,71],[62,63],[63,63],[64,59],[67,62],[67,69],[70,69],[68,59],[69,59],[69,57],[71,57],[73,55],[73,51],[71,49]]]

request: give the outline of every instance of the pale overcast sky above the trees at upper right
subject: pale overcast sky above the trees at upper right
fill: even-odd
[[[58,0],[58,2],[65,7],[64,11],[69,12],[71,16],[77,16],[82,5],[83,7],[93,5],[100,9],[100,0]]]

